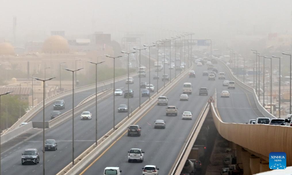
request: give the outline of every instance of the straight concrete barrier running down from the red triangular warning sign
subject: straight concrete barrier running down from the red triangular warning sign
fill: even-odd
[[[171,171],[170,175],[179,175],[180,172],[183,170],[183,167],[185,165],[185,162],[187,161],[187,157],[189,156],[192,147],[194,145],[194,142],[197,139],[197,136],[199,134],[199,131],[201,130],[201,127],[204,123],[204,120],[208,114],[210,107],[209,104],[207,103],[203,110],[201,111],[201,114],[198,117],[197,123],[194,125],[191,135],[189,139],[187,140],[185,147],[183,148],[181,154],[178,157],[178,161],[176,162],[173,170]]]

